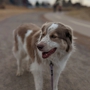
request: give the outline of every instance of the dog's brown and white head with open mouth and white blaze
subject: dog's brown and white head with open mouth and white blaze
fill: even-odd
[[[44,59],[61,51],[69,52],[72,48],[72,30],[60,23],[44,24],[37,48]]]

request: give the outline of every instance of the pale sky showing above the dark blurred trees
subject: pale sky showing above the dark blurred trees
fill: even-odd
[[[54,4],[56,0],[29,0],[29,1],[32,2],[33,4],[34,4],[36,1],[39,1],[39,2],[48,1],[48,2],[50,2],[51,4]],[[68,0],[67,0],[67,1],[68,1]],[[79,2],[79,1],[81,1],[83,5],[90,6],[90,0],[72,0],[72,3]]]

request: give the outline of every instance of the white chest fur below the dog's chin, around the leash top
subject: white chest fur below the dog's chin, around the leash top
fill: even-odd
[[[47,60],[43,60],[42,66],[43,66],[43,71],[45,72],[45,74],[50,75],[50,72],[51,72],[50,62],[53,63],[54,73],[61,72],[67,63],[67,59],[68,59],[67,57],[68,56],[62,59],[58,57],[50,57]]]

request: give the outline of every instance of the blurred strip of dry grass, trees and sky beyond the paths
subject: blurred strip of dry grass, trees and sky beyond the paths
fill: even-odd
[[[43,9],[68,11],[70,16],[90,20],[90,0],[0,0],[0,19],[4,18],[5,11],[7,17],[10,14]]]

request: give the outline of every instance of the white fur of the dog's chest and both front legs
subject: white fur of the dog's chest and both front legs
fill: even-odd
[[[57,54],[54,54],[50,58],[43,60],[43,62],[39,65],[36,61],[32,64],[31,66],[31,71],[34,75],[34,80],[35,80],[35,86],[36,90],[42,90],[42,85],[43,85],[43,78],[42,75],[43,73],[47,73],[47,76],[50,76],[50,61],[53,62],[54,67],[54,80],[53,80],[53,89],[58,90],[58,81],[61,72],[66,66],[67,60],[70,57],[70,54],[67,54],[65,57],[58,57]],[[60,60],[61,59],[61,60]],[[34,71],[34,72],[33,72]]]

